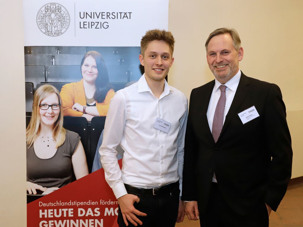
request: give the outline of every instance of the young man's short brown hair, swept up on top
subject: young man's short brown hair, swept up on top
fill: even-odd
[[[145,35],[141,39],[141,54],[144,56],[144,51],[147,48],[147,45],[149,42],[154,41],[154,40],[163,40],[165,41],[171,51],[171,55],[174,52],[174,44],[175,44],[175,39],[173,35],[171,34],[170,31],[165,31],[165,30],[148,30]]]

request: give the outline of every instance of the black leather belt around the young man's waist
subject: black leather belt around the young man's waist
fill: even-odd
[[[133,192],[135,194],[140,194],[142,196],[161,196],[161,195],[167,195],[171,194],[172,192],[175,192],[179,189],[179,182],[171,183],[162,187],[158,188],[136,188],[133,186],[130,186],[128,184],[124,184],[125,189],[128,192]]]

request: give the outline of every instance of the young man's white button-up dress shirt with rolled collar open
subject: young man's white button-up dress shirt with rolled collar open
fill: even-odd
[[[185,95],[166,81],[157,98],[144,74],[137,83],[116,92],[99,153],[105,179],[117,199],[127,194],[124,183],[154,188],[179,181],[181,190],[187,108]],[[154,128],[157,117],[171,123],[168,133]],[[116,157],[118,144],[125,151],[122,170]]]

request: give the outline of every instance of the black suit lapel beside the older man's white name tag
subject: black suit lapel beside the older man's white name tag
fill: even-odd
[[[241,78],[240,78],[240,81],[239,81],[239,85],[237,87],[235,97],[234,97],[234,99],[231,103],[231,106],[228,110],[228,113],[226,114],[224,125],[223,125],[223,128],[221,130],[221,134],[223,133],[223,131],[227,127],[230,120],[234,117],[234,115],[236,114],[237,110],[239,109],[241,103],[243,102],[245,96],[247,95],[248,90],[249,90],[248,85],[249,85],[248,77],[245,76],[241,71]]]

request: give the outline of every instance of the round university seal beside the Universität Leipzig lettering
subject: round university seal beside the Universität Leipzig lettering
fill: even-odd
[[[58,3],[42,6],[37,14],[38,28],[48,36],[62,35],[68,29],[69,23],[69,13]]]

